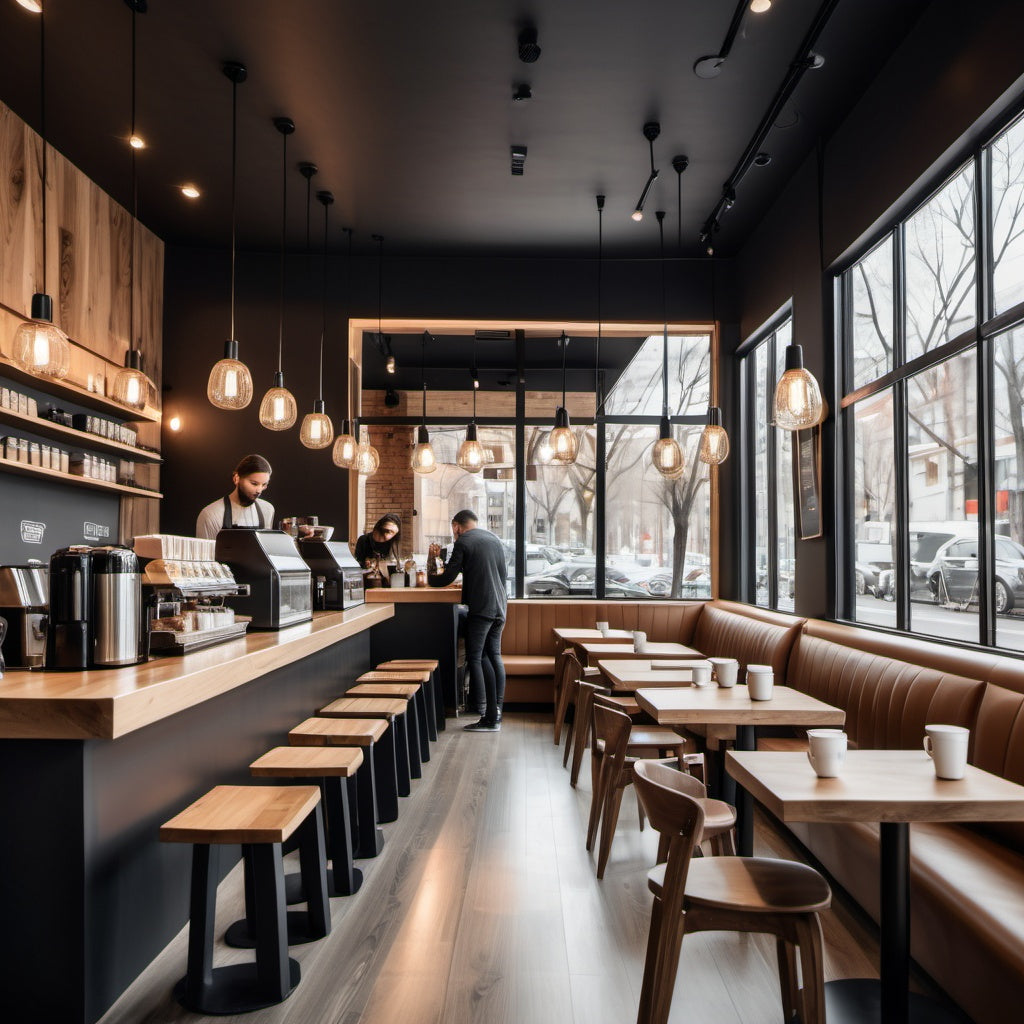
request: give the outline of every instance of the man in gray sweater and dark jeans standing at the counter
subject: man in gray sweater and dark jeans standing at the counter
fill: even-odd
[[[486,529],[476,525],[476,513],[463,509],[452,517],[455,545],[439,572],[433,570],[440,546],[431,544],[431,587],[446,587],[462,573],[462,601],[466,618],[466,660],[471,690],[486,694],[486,710],[467,732],[498,732],[505,699],[505,666],[502,663],[502,630],[505,628],[507,578],[505,546]]]

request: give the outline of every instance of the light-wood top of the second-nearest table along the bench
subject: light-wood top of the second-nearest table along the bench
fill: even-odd
[[[775,686],[770,700],[752,700],[745,686],[643,688],[637,690],[637,703],[658,725],[843,725],[846,721],[842,709],[788,686]]]

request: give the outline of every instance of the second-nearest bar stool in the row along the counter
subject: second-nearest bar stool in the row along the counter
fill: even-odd
[[[331,869],[327,891],[331,896],[351,896],[362,885],[362,871],[352,866],[353,843],[348,786],[362,765],[358,746],[274,746],[257,758],[249,770],[263,778],[317,778],[327,812],[327,846]],[[289,903],[305,901],[301,874],[285,877],[285,898]]]

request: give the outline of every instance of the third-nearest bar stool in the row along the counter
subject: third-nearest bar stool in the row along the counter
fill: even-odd
[[[390,764],[377,754],[377,742],[387,734],[394,735],[382,719],[369,718],[307,718],[288,734],[292,746],[360,746],[370,751],[370,757],[355,773],[355,856],[376,857],[384,846],[384,834],[378,821],[393,821],[398,814],[397,779],[394,769],[394,749]],[[383,771],[381,770],[383,769]],[[381,784],[378,785],[378,775]],[[351,778],[348,780],[352,784]],[[385,798],[385,793],[390,796]],[[386,816],[380,810],[380,801],[387,799],[391,805]]]

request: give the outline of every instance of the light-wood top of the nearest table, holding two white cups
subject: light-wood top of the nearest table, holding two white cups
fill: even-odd
[[[783,821],[1024,820],[1024,786],[974,765],[936,778],[923,750],[847,751],[838,778],[818,778],[804,752],[730,751],[726,768]]]

